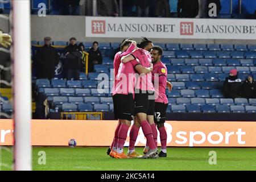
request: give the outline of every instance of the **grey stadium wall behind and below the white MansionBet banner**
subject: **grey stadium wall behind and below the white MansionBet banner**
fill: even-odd
[[[162,19],[166,20],[166,18],[162,18]],[[118,18],[114,18],[114,20],[118,21]],[[151,20],[151,18],[148,18],[148,20]],[[177,19],[168,19],[168,20],[176,21]],[[195,19],[195,20],[199,20],[199,19]],[[256,20],[251,20],[251,21],[253,21],[252,22],[253,24],[256,24],[255,23]],[[86,34],[85,16],[47,15],[46,17],[39,17],[37,15],[31,15],[31,39],[32,40],[38,40],[38,41],[43,40],[45,36],[51,36],[53,41],[64,41],[64,40],[68,41],[69,38],[71,38],[72,36],[76,36],[79,42],[93,42],[94,40],[97,40],[98,42],[120,42],[122,40],[122,38],[109,38],[108,36],[105,36],[104,38],[100,38],[100,37],[91,38],[91,37],[85,37],[85,34]],[[124,34],[123,36],[126,36],[126,34]],[[152,40],[158,43],[256,44],[256,40],[243,40],[243,39],[241,40],[168,39],[168,38],[158,38],[158,37],[159,37],[158,34],[155,34],[155,38],[152,38]],[[135,40],[139,40],[139,38]]]

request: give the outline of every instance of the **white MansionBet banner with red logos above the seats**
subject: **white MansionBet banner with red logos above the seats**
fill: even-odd
[[[256,39],[256,20],[86,16],[86,37]]]

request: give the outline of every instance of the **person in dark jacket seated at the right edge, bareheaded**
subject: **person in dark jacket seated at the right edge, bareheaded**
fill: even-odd
[[[256,82],[252,74],[249,74],[242,84],[242,95],[245,98],[256,98]]]

